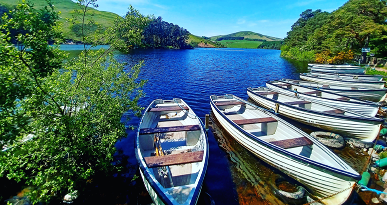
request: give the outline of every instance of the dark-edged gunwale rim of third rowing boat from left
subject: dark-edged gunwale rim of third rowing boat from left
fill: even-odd
[[[250,89],[252,89],[252,87],[249,87]],[[329,113],[329,112],[323,112],[323,111],[317,111],[317,110],[313,110],[313,109],[307,109],[307,108],[304,108],[304,107],[298,107],[298,106],[294,106],[294,105],[290,105],[290,104],[287,104],[285,102],[280,102],[278,100],[275,100],[275,99],[272,99],[272,98],[268,98],[268,97],[265,97],[261,94],[258,94],[256,92],[254,92],[253,90],[249,90],[249,88],[247,88],[247,90],[249,92],[252,92],[254,95],[260,95],[262,96],[264,99],[267,99],[267,100],[270,100],[270,101],[274,101],[276,103],[279,103],[279,104],[282,104],[282,105],[285,105],[285,106],[288,106],[288,107],[291,107],[291,108],[295,108],[295,109],[298,109],[298,110],[301,110],[301,111],[306,111],[306,112],[310,112],[310,113],[315,113],[315,114],[320,114],[320,115],[324,115],[324,116],[334,116],[334,117],[340,117],[340,118],[343,118],[343,116],[345,117],[348,117],[348,118],[353,118],[353,119],[361,119],[361,120],[368,120],[368,121],[379,121],[379,122],[384,122],[384,119],[379,119],[379,118],[376,118],[376,117],[371,117],[371,116],[368,116],[368,117],[358,117],[358,116],[347,116],[347,115],[343,115],[343,114],[336,114],[336,113]],[[269,88],[267,88],[269,89]],[[280,94],[283,94],[283,95],[287,95],[287,94],[284,94],[284,93],[280,93]],[[287,96],[291,96],[291,95],[287,95]],[[292,96],[293,97],[293,96]],[[319,102],[313,102],[313,103],[316,103],[316,104],[321,104]],[[323,104],[324,105],[324,104]],[[325,106],[332,106],[332,105],[325,105]],[[339,109],[342,109],[346,112],[355,112],[355,111],[351,111],[351,110],[348,110],[348,109],[343,109],[343,108],[340,108],[340,107],[334,107],[334,108],[339,108]],[[358,113],[358,112],[355,112],[357,114],[362,114],[362,113]],[[365,114],[363,114],[365,115]]]

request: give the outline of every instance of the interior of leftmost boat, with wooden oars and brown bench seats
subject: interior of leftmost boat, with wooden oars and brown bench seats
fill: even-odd
[[[199,119],[181,99],[155,100],[144,114],[139,143],[156,180],[183,203],[204,166],[206,135]]]

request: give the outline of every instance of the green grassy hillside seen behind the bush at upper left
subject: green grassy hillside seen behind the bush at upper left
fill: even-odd
[[[34,3],[35,8],[42,8],[47,5],[45,0],[28,0]],[[0,0],[0,4],[7,5],[16,5],[20,3],[21,0]],[[77,36],[71,30],[71,24],[66,22],[66,18],[71,18],[73,14],[75,14],[74,9],[79,9],[78,5],[71,0],[52,0],[52,3],[55,5],[55,10],[60,11],[60,22],[63,23],[62,29],[63,34],[66,38],[71,38],[75,40],[80,40],[80,37]],[[128,4],[129,5],[129,4]],[[114,19],[118,16],[115,13],[107,12],[107,11],[99,11],[96,9],[92,9],[90,11],[95,12],[95,15],[92,16],[95,21],[107,27],[114,22]],[[87,17],[88,19],[88,17]]]

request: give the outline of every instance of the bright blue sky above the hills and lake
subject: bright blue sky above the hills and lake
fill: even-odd
[[[284,38],[308,8],[332,12],[348,0],[98,0],[98,10],[123,15],[129,4],[142,14],[162,16],[194,35],[253,31]]]

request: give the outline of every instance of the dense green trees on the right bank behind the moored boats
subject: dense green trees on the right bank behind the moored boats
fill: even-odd
[[[371,47],[376,57],[387,56],[387,1],[349,0],[333,12],[307,9],[292,25],[284,39],[281,55],[303,61],[342,63],[339,53],[361,53],[362,47]],[[346,55],[351,57],[351,55]],[[341,59],[335,62],[332,59]],[[363,55],[362,61],[365,62]]]

